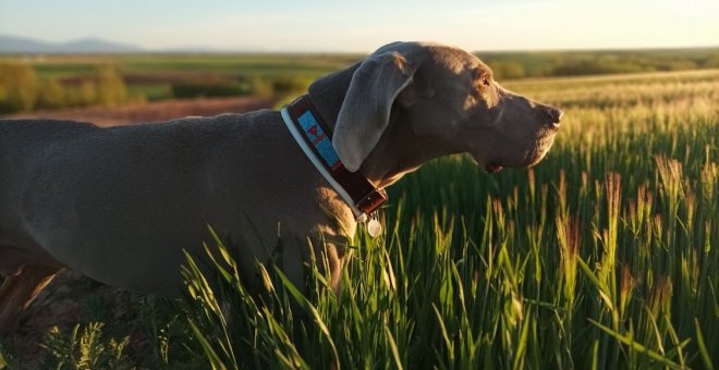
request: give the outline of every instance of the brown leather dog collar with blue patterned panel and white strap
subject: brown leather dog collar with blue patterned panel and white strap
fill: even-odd
[[[281,110],[282,120],[295,141],[325,180],[350,205],[357,221],[367,220],[387,201],[383,188],[376,188],[362,173],[350,172],[332,146],[332,132],[304,95]]]

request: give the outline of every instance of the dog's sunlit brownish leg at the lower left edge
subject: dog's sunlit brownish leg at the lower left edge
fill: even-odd
[[[59,271],[45,264],[28,264],[19,274],[5,279],[0,287],[0,334],[9,334],[16,329],[20,313]]]

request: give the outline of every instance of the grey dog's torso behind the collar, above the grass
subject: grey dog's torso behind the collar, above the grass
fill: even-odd
[[[237,251],[252,268],[276,247],[278,223],[309,235],[327,223],[318,203],[333,201],[278,112],[111,128],[8,121],[0,132],[12,178],[0,195],[5,275],[44,262],[176,294],[182,248],[202,249],[208,224],[253,248]]]

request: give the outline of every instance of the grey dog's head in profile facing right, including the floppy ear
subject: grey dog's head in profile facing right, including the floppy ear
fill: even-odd
[[[441,143],[447,153],[470,152],[482,168],[498,172],[539,162],[561,115],[502,88],[466,51],[394,42],[354,69],[332,144],[345,166],[357,171],[390,123],[407,125],[416,137]]]

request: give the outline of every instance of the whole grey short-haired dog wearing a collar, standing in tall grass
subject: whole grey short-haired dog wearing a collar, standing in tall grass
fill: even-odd
[[[291,281],[302,286],[316,252],[336,287],[346,256],[337,240],[353,237],[385,187],[453,153],[492,173],[534,165],[561,116],[502,88],[474,54],[393,42],[281,112],[108,128],[0,121],[0,331],[65,268],[179,294],[183,248],[203,255],[208,224],[234,242],[241,271],[270,260],[280,235]]]

